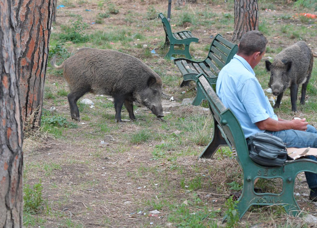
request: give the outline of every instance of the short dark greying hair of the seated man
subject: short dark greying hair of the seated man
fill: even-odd
[[[268,40],[261,32],[257,30],[249,31],[242,36],[237,54],[246,56],[252,55],[255,52],[262,54],[265,51],[267,43]]]

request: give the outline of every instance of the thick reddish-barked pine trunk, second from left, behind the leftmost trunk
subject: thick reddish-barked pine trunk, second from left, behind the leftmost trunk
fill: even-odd
[[[54,0],[14,0],[23,130],[41,125]],[[33,113],[34,112],[34,113]]]

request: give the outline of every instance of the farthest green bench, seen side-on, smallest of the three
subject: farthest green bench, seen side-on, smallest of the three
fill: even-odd
[[[182,31],[177,33],[172,33],[171,25],[167,21],[166,17],[162,13],[159,14],[159,18],[162,20],[163,27],[165,30],[165,43],[164,46],[170,46],[170,50],[165,55],[164,58],[171,59],[172,54],[182,54],[186,58],[191,59],[191,54],[189,54],[189,45],[191,42],[198,43],[198,38],[191,34],[191,31]],[[175,50],[175,45],[184,45],[184,50]]]

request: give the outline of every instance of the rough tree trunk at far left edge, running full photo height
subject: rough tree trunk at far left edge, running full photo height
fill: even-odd
[[[22,227],[22,123],[11,0],[0,0],[0,227]]]

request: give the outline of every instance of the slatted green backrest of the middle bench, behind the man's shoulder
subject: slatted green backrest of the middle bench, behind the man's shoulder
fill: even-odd
[[[233,44],[217,34],[209,49],[207,58],[204,60],[213,74],[217,77],[220,70],[225,66],[238,51],[238,45]]]

